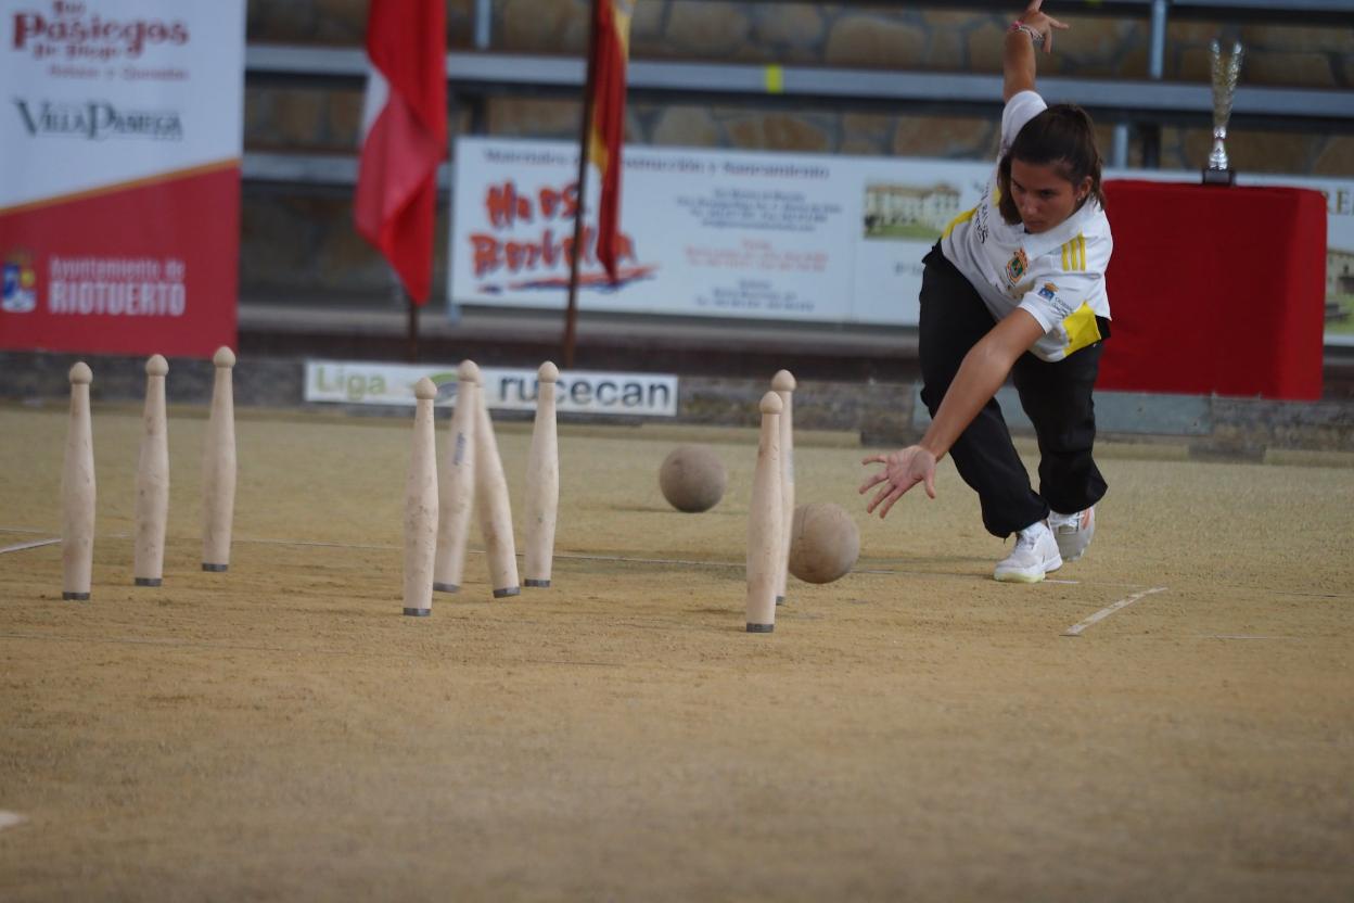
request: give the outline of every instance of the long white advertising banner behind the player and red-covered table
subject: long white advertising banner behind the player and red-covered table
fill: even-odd
[[[582,310],[915,326],[922,257],[978,203],[994,162],[627,146],[624,167],[620,280],[605,280],[589,223]],[[454,303],[565,307],[577,172],[567,142],[456,142]],[[1240,183],[1326,194],[1327,341],[1354,344],[1354,181],[1243,173]],[[589,194],[593,210],[596,179]]]

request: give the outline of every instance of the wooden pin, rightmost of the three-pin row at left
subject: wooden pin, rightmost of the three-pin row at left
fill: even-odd
[[[236,355],[218,348],[211,387],[207,440],[202,447],[202,570],[223,571],[230,566],[230,525],[236,513],[236,401],[232,367]]]

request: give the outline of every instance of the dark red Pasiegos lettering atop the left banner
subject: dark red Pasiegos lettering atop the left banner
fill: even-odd
[[[181,46],[188,41],[188,26],[181,20],[108,18],[91,14],[88,3],[51,0],[47,12],[14,15],[9,46],[35,60],[112,62],[137,60],[149,46]]]

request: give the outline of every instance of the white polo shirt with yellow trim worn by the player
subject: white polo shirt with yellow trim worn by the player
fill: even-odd
[[[998,160],[1047,107],[1033,91],[1006,102]],[[1044,336],[1030,351],[1040,359],[1062,360],[1099,341],[1095,317],[1109,320],[1105,268],[1114,246],[1099,203],[1091,198],[1056,227],[1032,236],[1022,223],[1002,219],[999,200],[994,168],[978,206],[945,227],[945,257],[968,278],[992,317],[1003,320],[1021,307],[1039,321]]]

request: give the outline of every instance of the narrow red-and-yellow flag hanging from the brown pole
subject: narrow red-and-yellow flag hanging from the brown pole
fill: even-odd
[[[620,144],[626,137],[626,62],[630,60],[631,0],[594,0],[593,56],[588,61],[593,114],[588,158],[601,173],[597,259],[616,282],[620,233]]]

